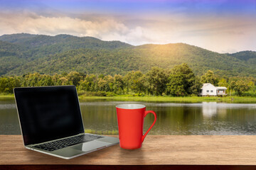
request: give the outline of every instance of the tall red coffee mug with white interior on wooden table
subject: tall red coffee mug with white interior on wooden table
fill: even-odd
[[[146,106],[140,104],[117,105],[117,123],[119,130],[119,144],[124,149],[138,149],[149,130],[156,123],[156,113],[146,111]],[[144,118],[148,113],[154,114],[154,123],[143,135]]]

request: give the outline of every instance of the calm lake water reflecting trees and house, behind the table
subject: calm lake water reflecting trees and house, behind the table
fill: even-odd
[[[88,132],[118,132],[115,106],[140,103],[156,112],[157,120],[149,135],[256,135],[254,103],[153,103],[129,101],[80,102]],[[144,131],[154,121],[145,118]],[[0,101],[0,135],[21,134],[14,100]]]

